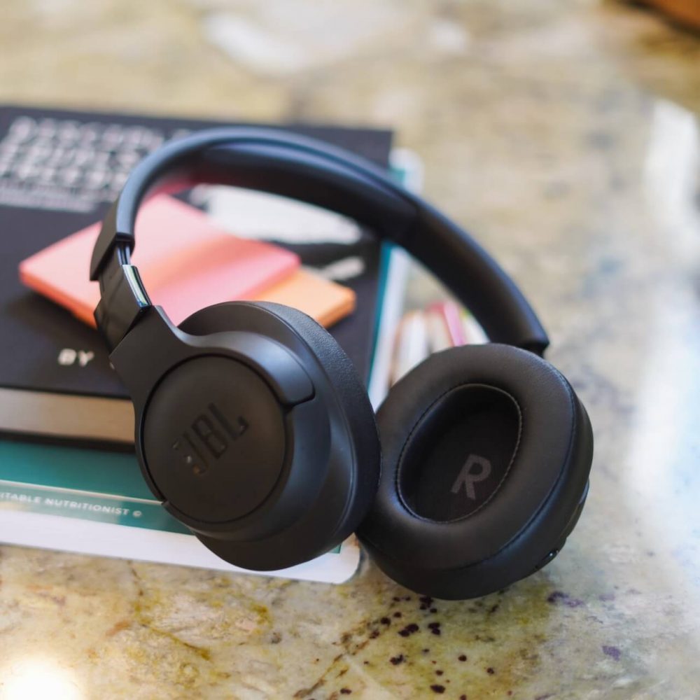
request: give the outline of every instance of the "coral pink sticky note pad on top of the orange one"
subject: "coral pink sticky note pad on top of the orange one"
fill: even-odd
[[[20,263],[22,283],[90,325],[99,288],[88,269],[99,229],[99,223],[88,226]],[[209,304],[263,297],[300,265],[294,253],[232,236],[199,209],[167,195],[141,207],[132,260],[151,300],[174,323]]]

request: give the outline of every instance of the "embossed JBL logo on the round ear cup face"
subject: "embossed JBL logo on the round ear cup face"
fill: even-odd
[[[173,442],[172,448],[195,474],[203,474],[209,469],[209,459],[221,457],[246,430],[248,423],[243,416],[238,416],[232,425],[216,404],[210,403],[190,429]]]

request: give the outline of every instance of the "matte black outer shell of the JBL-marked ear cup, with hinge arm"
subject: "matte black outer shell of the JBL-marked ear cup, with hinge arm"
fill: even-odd
[[[291,351],[255,332],[188,335],[151,307],[111,359],[135,390],[141,472],[176,518],[240,539],[302,517],[328,471],[330,426]]]

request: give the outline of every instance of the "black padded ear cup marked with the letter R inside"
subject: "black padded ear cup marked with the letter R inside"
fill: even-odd
[[[437,598],[501,589],[551,560],[587,493],[593,436],[564,377],[505,345],[437,353],[377,414],[382,473],[358,535]]]

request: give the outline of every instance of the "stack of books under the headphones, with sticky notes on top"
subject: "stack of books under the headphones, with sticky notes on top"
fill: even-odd
[[[235,569],[141,479],[131,405],[94,330],[97,290],[87,281],[99,220],[130,169],[165,140],[212,125],[0,109],[0,541]],[[415,179],[414,159],[392,155],[390,132],[285,126]],[[165,247],[155,235],[164,225]],[[224,300],[300,307],[329,327],[381,400],[403,255],[334,214],[216,186],[151,200],[138,226],[134,261],[176,323]],[[349,540],[281,574],[337,582],[358,559]]]

